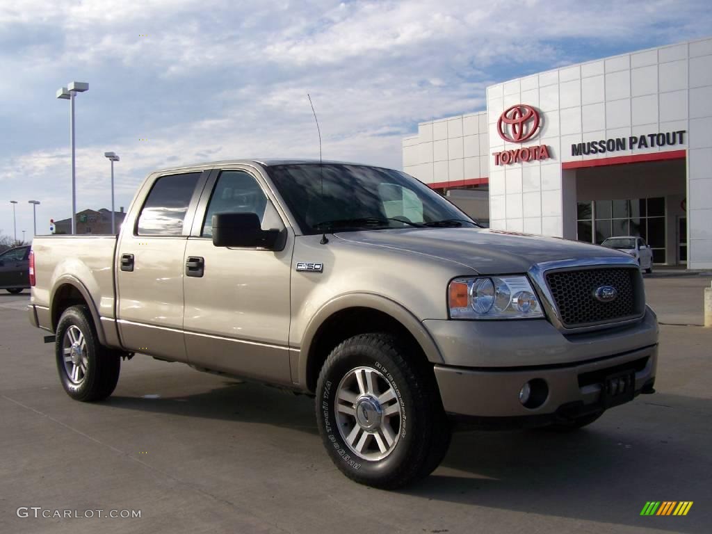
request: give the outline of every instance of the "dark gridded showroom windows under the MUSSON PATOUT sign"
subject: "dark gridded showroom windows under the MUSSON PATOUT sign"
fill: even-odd
[[[577,239],[602,244],[612,236],[640,236],[665,263],[665,198],[596,200],[577,203]]]

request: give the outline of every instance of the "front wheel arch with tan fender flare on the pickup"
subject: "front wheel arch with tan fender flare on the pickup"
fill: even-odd
[[[409,310],[381,295],[351,293],[330,300],[307,325],[299,352],[299,384],[315,392],[319,371],[333,347],[370,331],[406,335],[425,360],[443,362],[431,335]]]

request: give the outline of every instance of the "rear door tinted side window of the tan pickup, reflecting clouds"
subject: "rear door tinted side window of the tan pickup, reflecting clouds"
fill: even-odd
[[[138,218],[140,236],[180,236],[199,172],[162,176],[148,194]]]

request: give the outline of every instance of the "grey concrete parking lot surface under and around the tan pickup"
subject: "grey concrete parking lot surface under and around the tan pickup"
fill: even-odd
[[[0,295],[1,533],[609,533],[712,531],[709,278],[649,278],[656,394],[582,431],[466,431],[405,491],[352,483],[323,450],[313,400],[137,355],[114,395],[63,392],[28,294]],[[525,341],[525,340],[523,340]],[[688,515],[639,515],[693,501]],[[132,510],[140,518],[26,518]]]

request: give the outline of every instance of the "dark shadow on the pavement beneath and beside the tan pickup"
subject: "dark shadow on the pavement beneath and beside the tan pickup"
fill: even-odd
[[[226,382],[224,387],[184,397],[117,396],[106,404],[297,429],[313,435],[314,446],[321,446],[313,399],[256,384]],[[587,429],[567,434],[456,432],[440,468],[411,488],[390,494],[400,501],[398,506],[413,506],[412,498],[419,498],[671,532],[706,532],[703,525],[712,515],[702,506],[693,507],[685,518],[647,518],[639,513],[646,501],[704,503],[712,498],[708,486],[712,462],[703,437],[708,429],[699,427],[699,415],[709,414],[711,408],[709,399],[656,394],[639,397]],[[250,439],[259,441],[259,431],[252,430]],[[323,461],[328,466],[326,455]]]

